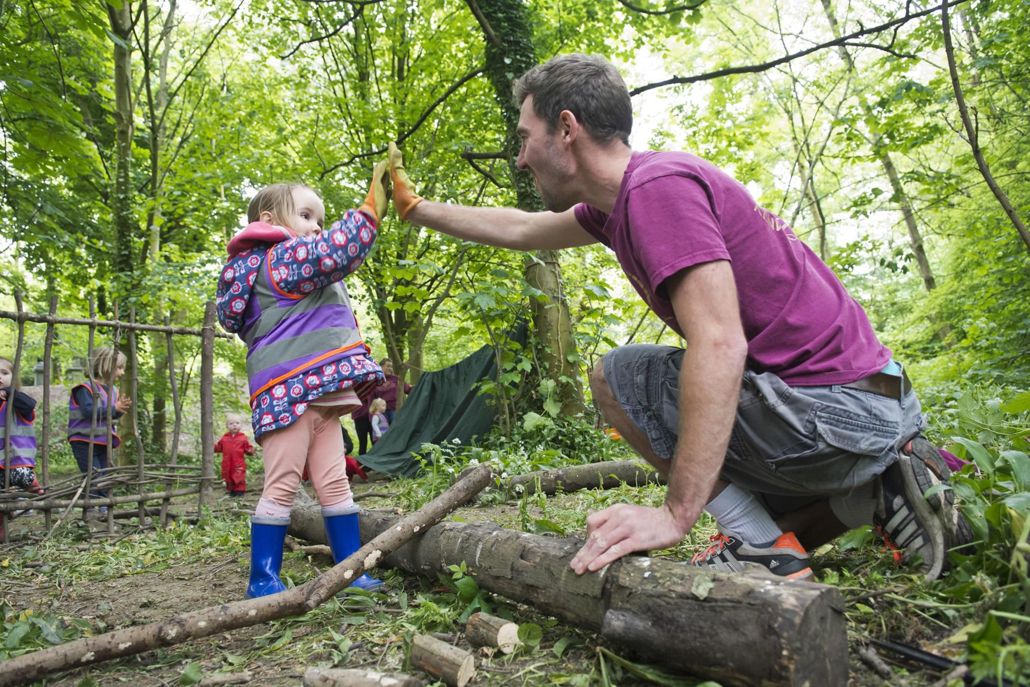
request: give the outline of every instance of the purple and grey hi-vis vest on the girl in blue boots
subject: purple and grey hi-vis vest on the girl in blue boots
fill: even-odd
[[[254,280],[239,336],[247,344],[250,403],[273,385],[323,363],[367,352],[350,298],[337,281],[307,296],[285,294],[272,282],[266,257]]]

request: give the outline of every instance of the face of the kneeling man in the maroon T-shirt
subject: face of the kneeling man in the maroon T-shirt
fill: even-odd
[[[533,96],[522,101],[518,117],[518,168],[528,170],[537,193],[552,212],[563,212],[578,201],[571,198],[572,166],[561,146],[561,127],[547,130],[547,123],[533,109]]]

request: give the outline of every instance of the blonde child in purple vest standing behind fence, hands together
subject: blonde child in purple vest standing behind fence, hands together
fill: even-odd
[[[82,474],[89,472],[92,456],[94,479],[98,470],[107,468],[108,408],[111,411],[111,450],[122,443],[116,434],[115,420],[129,410],[132,399],[119,396],[114,383],[125,372],[125,353],[110,346],[95,348],[93,357],[90,358],[90,376],[93,381],[72,387],[71,398],[68,400],[68,442],[71,444],[71,452]],[[96,415],[93,412],[94,406]],[[106,499],[107,489],[91,489],[90,497]],[[107,507],[101,506],[98,510],[103,514],[107,512]]]

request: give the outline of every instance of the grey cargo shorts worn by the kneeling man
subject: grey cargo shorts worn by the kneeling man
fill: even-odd
[[[632,344],[609,351],[605,379],[651,448],[672,458],[680,434],[683,348]],[[745,371],[722,479],[777,496],[845,495],[897,459],[924,426],[919,399],[891,399],[840,385],[789,386],[772,373]],[[776,502],[783,506],[777,506]],[[795,504],[797,505],[797,504]]]

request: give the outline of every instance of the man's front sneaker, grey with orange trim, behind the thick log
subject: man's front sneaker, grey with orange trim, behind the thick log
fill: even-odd
[[[712,568],[725,573],[743,573],[753,569],[765,571],[791,580],[812,580],[809,552],[794,537],[794,533],[780,535],[775,542],[748,544],[735,533],[719,529],[712,535],[712,545],[690,559],[691,565]]]

